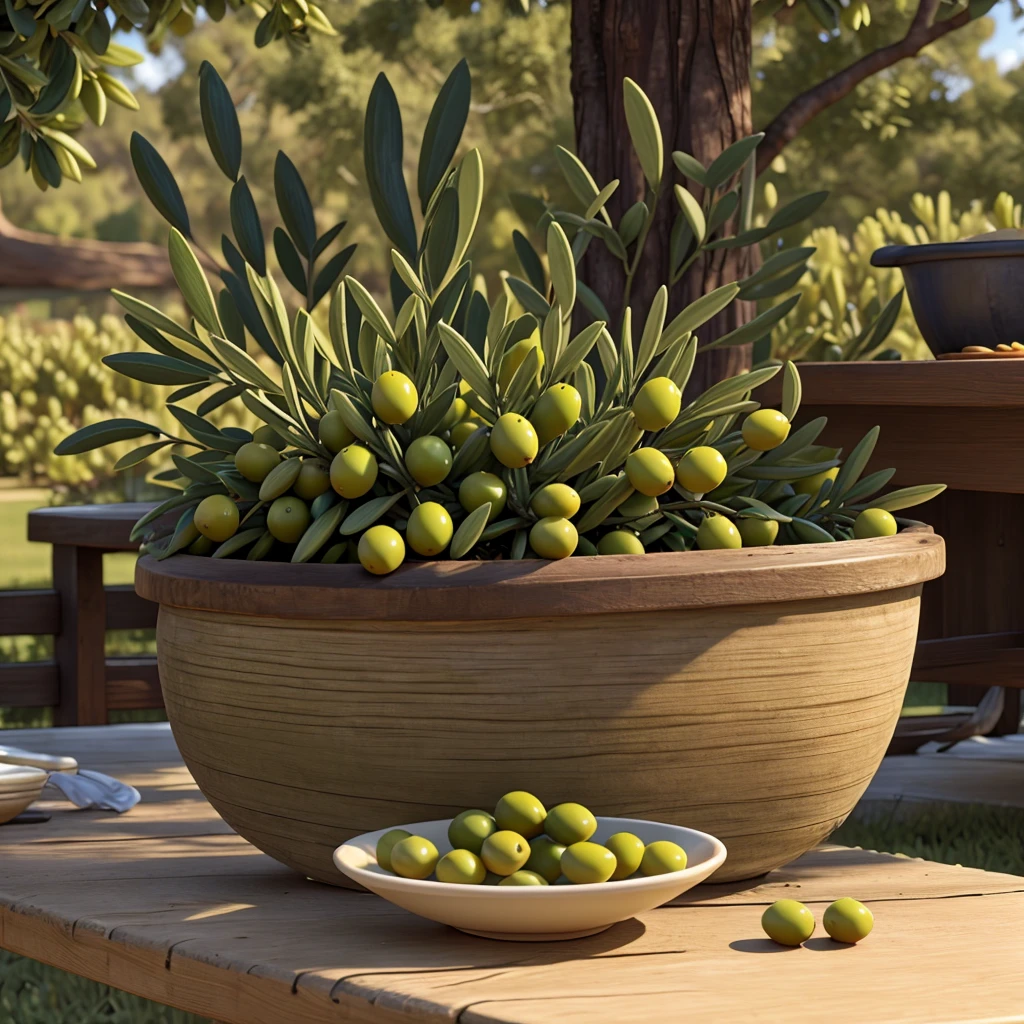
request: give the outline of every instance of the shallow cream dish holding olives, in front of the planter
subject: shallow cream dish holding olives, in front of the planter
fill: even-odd
[[[634,833],[645,843],[669,840],[686,851],[686,869],[600,885],[520,887],[420,882],[399,878],[378,865],[377,841],[391,828],[429,839],[443,856],[452,849],[450,822],[451,818],[417,821],[356,836],[334,851],[334,862],[353,882],[421,918],[487,939],[537,942],[596,935],[620,921],[668,903],[703,882],[722,866],[726,856],[720,840],[693,828],[636,818],[598,818],[594,842],[602,843],[618,831]]]

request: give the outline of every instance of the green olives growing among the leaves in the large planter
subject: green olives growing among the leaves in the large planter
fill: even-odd
[[[536,345],[532,338],[514,346],[502,364],[502,378],[510,377],[521,366],[524,355]],[[540,351],[538,349],[538,351]],[[445,484],[453,470],[455,455],[478,432],[486,436],[493,459],[506,470],[524,469],[540,450],[563,436],[575,426],[582,408],[580,392],[567,383],[547,388],[536,402],[529,419],[517,413],[505,413],[488,423],[474,413],[466,400],[471,394],[465,383],[461,394],[439,422],[437,433],[424,434],[409,441],[403,453],[403,469],[413,482],[418,500],[401,520],[403,530],[378,523],[361,531],[354,550],[343,539],[322,547],[322,561],[335,562],[344,557],[357,558],[370,572],[385,574],[406,559],[407,546],[424,558],[436,558],[452,543],[455,534],[452,509],[445,506],[457,495],[465,513],[487,506],[486,521],[494,522],[506,509],[509,494],[502,476],[489,470],[468,473],[457,490],[435,493]],[[403,373],[389,370],[374,382],[371,395],[379,422],[389,427],[401,426],[416,415],[419,396],[413,381]],[[668,377],[655,377],[641,387],[632,404],[637,427],[655,433],[670,426],[679,416],[682,394]],[[769,452],[790,435],[790,421],[771,409],[751,413],[742,423],[742,442],[752,452]],[[259,484],[259,502],[266,505],[265,537],[261,550],[266,554],[274,541],[296,545],[310,524],[340,501],[357,502],[367,498],[377,484],[381,467],[376,455],[360,443],[345,423],[343,415],[331,410],[319,420],[321,444],[332,454],[329,462],[317,457],[303,458],[299,453],[282,454],[286,440],[272,427],[256,430],[233,457],[238,472],[248,481]],[[498,467],[495,467],[498,468]],[[675,462],[653,446],[641,446],[630,453],[624,466],[625,477],[635,494],[618,507],[625,516],[639,519],[658,511],[657,499],[678,486],[686,496],[701,498],[714,492],[728,476],[728,464],[718,449],[697,445]],[[794,482],[797,494],[813,496],[826,481],[834,481],[839,469],[833,468]],[[609,475],[609,480],[616,479]],[[572,522],[580,511],[581,495],[563,482],[539,487],[529,501],[531,524],[528,543],[541,558],[566,558],[577,552],[580,534]],[[338,517],[340,518],[340,516]],[[195,511],[188,551],[209,554],[215,545],[233,538],[245,521],[239,504],[227,495],[210,495]],[[341,527],[344,529],[344,526]],[[701,518],[694,544],[703,550],[760,547],[774,544],[778,537],[777,520],[731,518],[711,513]],[[854,522],[857,538],[895,534],[895,518],[884,509],[862,511]],[[643,554],[644,545],[636,529],[618,525],[605,530],[596,541],[596,554]]]

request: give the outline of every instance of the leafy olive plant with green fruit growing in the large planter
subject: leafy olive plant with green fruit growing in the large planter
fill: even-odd
[[[627,82],[626,90],[628,105],[639,112],[631,131],[646,166],[659,128],[636,85]],[[129,377],[174,387],[168,408],[180,430],[110,420],[57,447],[70,455],[150,437],[121,467],[171,452],[173,469],[157,478],[173,494],[134,531],[155,557],[187,551],[358,560],[386,572],[407,553],[520,559],[834,542],[894,532],[891,512],[942,489],[908,487],[876,498],[892,476],[890,470],[862,475],[878,430],[845,462],[818,441],[823,418],[791,430],[801,392],[792,362],[722,381],[683,403],[701,327],[744,289],[749,294],[794,266],[782,253],[753,279],[716,289],[672,319],[666,285],[635,322],[627,306],[621,324],[598,317],[574,331],[583,249],[593,238],[625,247],[629,231],[604,214],[613,183],[598,187],[567,154],[562,159],[578,195],[594,193],[585,215],[544,210],[543,255],[517,240],[529,281],[505,276],[492,300],[467,258],[483,170],[476,150],[457,157],[469,110],[464,62],[441,88],[426,126],[417,171],[419,227],[401,171],[400,112],[384,76],[370,96],[366,169],[393,246],[390,314],[354,278],[337,280],[352,247],[328,253],[344,224],[318,233],[301,176],[280,155],[274,185],[282,225],[273,248],[294,293],[286,301],[241,174],[234,109],[209,65],[200,98],[211,150],[231,181],[233,241],[222,239],[223,287],[214,294],[204,265],[213,257],[190,244],[173,176],[136,136],[136,170],[171,224],[171,265],[191,316],[180,324],[115,292],[127,324],[153,352],[103,360]],[[683,161],[685,173],[706,185],[703,207],[677,189],[692,236],[680,244],[683,262],[699,246],[756,241],[751,228],[716,238],[721,215],[714,223],[724,196],[736,197],[728,201],[733,206],[740,202],[738,193],[720,189],[749,164],[756,144],[756,137],[737,143],[710,168]],[[648,215],[649,209],[635,215],[640,234]],[[771,230],[757,229],[762,238]],[[322,315],[317,306],[329,295]],[[746,340],[774,323],[759,319]],[[780,409],[762,408],[754,392],[779,373]],[[197,411],[184,404],[200,395]],[[209,414],[229,401],[241,401],[263,426],[253,434],[218,429]],[[168,523],[171,513],[176,521]]]

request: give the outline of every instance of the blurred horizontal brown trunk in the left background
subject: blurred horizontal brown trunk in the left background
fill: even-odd
[[[26,231],[0,209],[0,288],[105,292],[174,287],[167,252],[160,246]]]

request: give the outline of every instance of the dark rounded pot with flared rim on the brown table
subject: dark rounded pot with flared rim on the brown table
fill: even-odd
[[[918,327],[936,355],[1024,341],[1024,239],[886,246],[871,265],[902,269]]]

